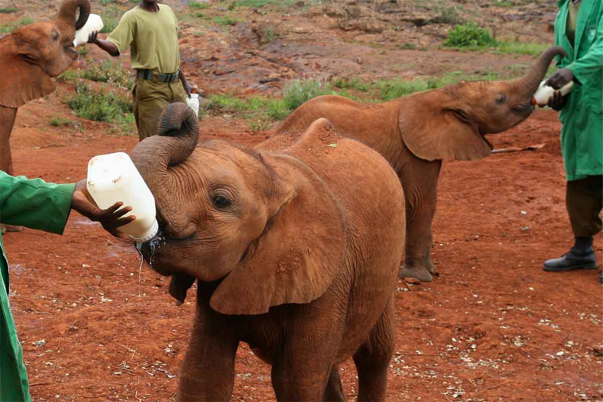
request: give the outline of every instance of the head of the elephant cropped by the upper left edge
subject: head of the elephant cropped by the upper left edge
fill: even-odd
[[[76,19],[76,11],[80,15]],[[0,105],[18,108],[55,89],[57,77],[77,59],[75,30],[86,24],[88,0],[65,0],[53,19],[25,25],[0,40]]]

